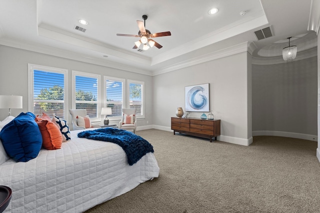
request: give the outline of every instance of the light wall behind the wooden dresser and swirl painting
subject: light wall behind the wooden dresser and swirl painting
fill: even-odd
[[[251,135],[251,62],[241,52],[153,76],[153,126],[170,130],[177,107],[184,110],[184,87],[209,83],[210,109],[221,120],[220,141],[249,145]],[[199,118],[201,113],[191,113]]]

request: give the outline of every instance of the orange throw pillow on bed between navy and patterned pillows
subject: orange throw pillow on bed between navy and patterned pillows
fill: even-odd
[[[51,118],[47,114],[42,113],[41,117],[36,116],[35,122],[42,135],[42,148],[47,150],[60,149],[62,135],[59,128],[51,121]]]

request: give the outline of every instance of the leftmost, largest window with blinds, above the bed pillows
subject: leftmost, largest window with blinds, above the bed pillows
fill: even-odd
[[[28,64],[28,111],[35,115],[54,113],[64,119],[66,73],[65,69]]]

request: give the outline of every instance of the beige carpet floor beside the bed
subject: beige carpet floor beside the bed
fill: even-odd
[[[257,136],[246,147],[160,130],[159,177],[86,213],[320,213],[314,141]]]

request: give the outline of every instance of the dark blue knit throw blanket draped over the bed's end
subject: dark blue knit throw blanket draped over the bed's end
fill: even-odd
[[[128,164],[132,166],[146,153],[152,152],[152,145],[129,131],[115,128],[101,128],[78,133],[79,138],[112,142],[119,145],[125,152]]]

